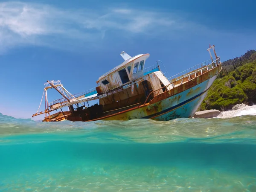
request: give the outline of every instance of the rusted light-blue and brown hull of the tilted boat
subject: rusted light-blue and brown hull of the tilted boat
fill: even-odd
[[[221,65],[218,65],[191,81],[154,96],[154,99],[146,105],[94,120],[154,119],[168,121],[182,117],[191,118],[220,71]]]

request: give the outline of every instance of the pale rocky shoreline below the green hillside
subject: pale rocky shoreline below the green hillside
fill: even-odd
[[[229,111],[218,111],[215,109],[198,111],[195,113],[193,118],[231,118],[235,116],[241,115],[256,115],[256,105],[245,105],[245,104],[237,104],[232,110]]]

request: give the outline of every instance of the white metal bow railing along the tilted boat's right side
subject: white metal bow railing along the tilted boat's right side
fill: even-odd
[[[167,84],[166,86],[163,86],[163,87],[161,87],[160,89],[157,89],[157,90],[152,91],[151,93],[148,94],[148,97],[147,97],[147,99],[145,100],[145,102],[144,102],[143,105],[145,105],[145,104],[147,103],[148,99],[150,98],[150,96],[151,96],[154,92],[157,92],[156,95],[158,95],[158,94],[160,93],[160,90],[164,90],[163,92],[166,92],[166,91],[169,90],[169,87],[170,87],[170,86],[173,87],[173,88],[174,88],[175,86],[177,86],[177,82],[178,82],[178,85],[183,84],[183,79],[185,79],[185,78],[188,78],[187,81],[190,81],[190,80],[196,78],[197,75],[198,75],[198,73],[200,73],[200,75],[201,75],[201,74],[203,74],[204,71],[208,71],[208,70],[210,70],[210,69],[213,69],[213,68],[217,67],[218,64],[220,64],[220,58],[218,57],[217,59],[216,59],[216,58],[213,58],[213,59],[215,59],[215,60],[212,61],[212,59],[210,59],[210,60],[208,60],[208,61],[204,61],[204,63],[195,65],[194,67],[192,67],[192,68],[190,68],[190,69],[188,69],[188,70],[185,70],[185,71],[189,71],[189,70],[195,69],[196,67],[198,67],[198,66],[201,65],[201,67],[196,68],[196,70],[192,70],[191,73],[189,73],[189,72],[190,72],[190,71],[189,71],[188,73],[184,74],[183,76],[179,76],[179,77],[175,78],[174,81],[171,80],[171,81],[170,81],[170,84]],[[205,64],[207,64],[207,65],[205,65]],[[181,72],[181,73],[183,73],[183,72]],[[178,73],[178,74],[180,74],[180,73]],[[178,74],[177,74],[177,75],[178,75]],[[175,76],[176,76],[176,75],[175,75]],[[173,77],[175,77],[175,76],[173,76]]]

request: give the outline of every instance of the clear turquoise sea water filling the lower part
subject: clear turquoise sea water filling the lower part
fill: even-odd
[[[0,191],[256,192],[256,116],[46,123],[0,114]]]

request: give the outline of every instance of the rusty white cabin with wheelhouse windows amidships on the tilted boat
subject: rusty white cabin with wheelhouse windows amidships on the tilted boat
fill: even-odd
[[[160,71],[159,66],[157,71],[147,75],[143,72],[149,54],[131,57],[122,51],[120,55],[125,61],[96,81],[99,105],[104,106],[104,112],[141,105],[145,102],[149,93],[170,84]],[[167,88],[169,89],[169,87]],[[148,101],[153,97],[154,94],[151,95]]]

